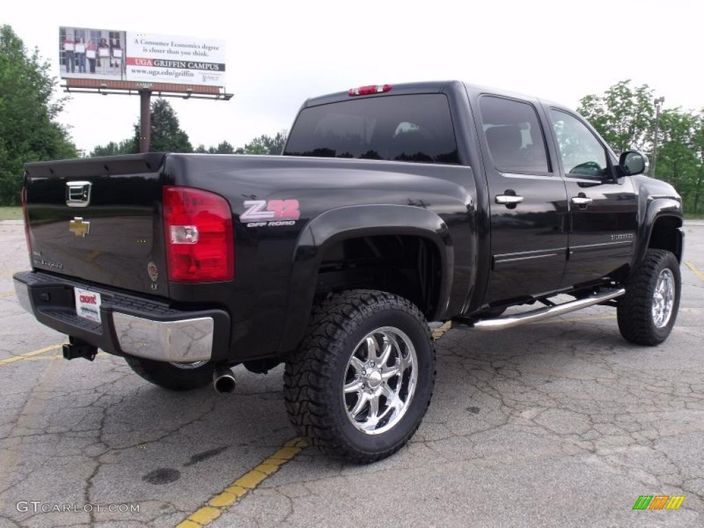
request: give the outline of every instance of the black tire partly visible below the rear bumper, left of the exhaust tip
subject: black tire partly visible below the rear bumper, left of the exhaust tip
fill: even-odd
[[[190,391],[213,382],[213,363],[205,363],[196,368],[179,368],[163,361],[125,356],[127,365],[149,383],[172,391]]]

